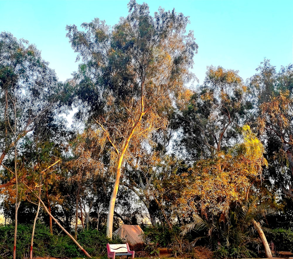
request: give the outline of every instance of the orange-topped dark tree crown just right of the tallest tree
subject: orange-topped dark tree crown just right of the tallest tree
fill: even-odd
[[[208,67],[204,84],[178,114],[180,153],[183,147],[185,159],[195,161],[233,147],[251,107],[237,71]]]

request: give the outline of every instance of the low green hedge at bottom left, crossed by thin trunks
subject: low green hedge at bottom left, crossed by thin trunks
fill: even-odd
[[[97,230],[81,231],[77,241],[92,256],[107,255],[106,244],[125,243],[124,240],[113,236],[112,241],[107,240],[106,231]],[[28,258],[30,251],[30,241],[32,236],[32,225],[18,224],[16,258]],[[0,258],[12,258],[13,255],[14,225],[0,226]],[[69,236],[62,232],[52,235],[50,230],[43,224],[38,224],[35,228],[33,257],[57,257],[72,258],[84,257],[84,253],[79,250]]]

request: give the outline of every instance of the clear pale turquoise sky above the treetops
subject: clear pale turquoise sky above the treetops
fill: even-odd
[[[143,1],[137,0],[138,3]],[[266,57],[280,69],[292,63],[293,1],[287,0],[147,0],[153,14],[159,6],[190,16],[199,45],[193,72],[203,82],[206,67],[239,70],[246,80]],[[127,16],[128,0],[0,0],[0,31],[37,46],[61,81],[77,69],[76,54],[65,26],[95,17],[110,26]]]

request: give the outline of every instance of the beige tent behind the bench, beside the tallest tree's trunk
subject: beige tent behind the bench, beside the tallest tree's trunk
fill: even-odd
[[[122,224],[120,228],[115,231],[116,235],[124,238],[128,243],[137,244],[143,243],[142,237],[139,236],[142,234],[142,229],[139,225],[125,225]]]

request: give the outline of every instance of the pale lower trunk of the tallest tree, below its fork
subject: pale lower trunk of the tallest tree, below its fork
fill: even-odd
[[[118,192],[119,183],[120,183],[122,160],[123,160],[123,157],[120,155],[117,162],[116,179],[115,179],[114,189],[110,199],[108,218],[107,218],[106,237],[110,238],[111,240],[112,240],[112,232],[113,232],[114,208],[115,208],[115,202],[116,202],[117,192]]]

